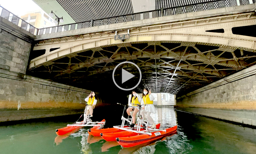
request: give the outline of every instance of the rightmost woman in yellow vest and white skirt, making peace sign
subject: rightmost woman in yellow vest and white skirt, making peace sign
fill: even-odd
[[[153,118],[150,116],[151,113],[155,112],[155,107],[153,105],[154,96],[151,95],[151,90],[149,91],[148,88],[145,88],[142,93],[142,100],[141,105],[143,105],[141,110],[142,119],[144,120],[144,114],[146,113],[147,119],[152,124],[151,128],[155,128],[155,122]]]

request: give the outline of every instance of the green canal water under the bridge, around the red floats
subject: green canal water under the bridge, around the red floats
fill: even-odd
[[[113,109],[113,108],[112,108]],[[193,115],[172,108],[156,108],[152,114],[161,128],[178,125],[177,133],[144,146],[122,148],[116,141],[88,135],[88,127],[69,136],[55,130],[80,115],[0,123],[0,154],[255,154],[256,129]],[[97,116],[96,116],[97,115]],[[122,108],[94,110],[93,120],[106,119],[105,128],[121,124]]]

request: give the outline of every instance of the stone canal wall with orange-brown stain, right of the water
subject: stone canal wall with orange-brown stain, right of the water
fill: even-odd
[[[181,96],[176,109],[256,126],[255,70],[249,67]]]

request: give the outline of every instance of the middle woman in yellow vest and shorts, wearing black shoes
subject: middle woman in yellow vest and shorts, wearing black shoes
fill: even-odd
[[[128,114],[128,118],[131,118],[130,112],[133,111],[133,114],[132,114],[132,124],[128,125],[131,128],[134,128],[135,116],[138,113],[138,111],[140,110],[140,106],[139,106],[140,102],[141,102],[141,97],[135,91],[132,91],[132,97],[131,97],[131,99],[129,100],[129,103],[128,103],[128,105],[130,107],[128,107],[127,110],[126,110],[126,112]]]

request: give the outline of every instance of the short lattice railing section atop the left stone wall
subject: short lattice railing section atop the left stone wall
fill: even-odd
[[[14,23],[15,25],[21,27],[22,29],[27,30],[31,34],[34,34],[34,35],[37,34],[38,28],[35,28],[35,26],[29,24],[22,18],[19,18],[18,16],[16,16],[15,14],[11,13],[8,10],[6,10],[2,6],[0,6],[0,16],[2,18],[9,20],[10,22]]]

